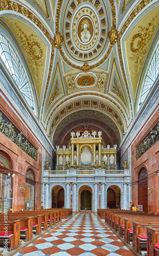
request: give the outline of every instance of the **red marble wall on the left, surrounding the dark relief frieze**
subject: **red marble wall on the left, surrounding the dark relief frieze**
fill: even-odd
[[[32,143],[37,149],[37,161],[25,153],[19,146],[12,142],[6,135],[0,132],[0,151],[5,153],[5,156],[11,161],[11,166],[15,171],[15,176],[12,178],[12,196],[14,199],[14,211],[25,209],[25,192],[21,191],[20,186],[25,188],[26,172],[31,169],[35,176],[35,209],[41,208],[41,166],[42,166],[42,147],[38,139],[31,133],[25,120],[19,119],[17,111],[10,108],[9,104],[0,97],[0,111],[12,122],[14,126]],[[13,111],[14,110],[14,111]]]

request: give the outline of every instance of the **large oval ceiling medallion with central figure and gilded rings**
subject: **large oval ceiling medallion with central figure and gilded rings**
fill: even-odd
[[[64,17],[60,18],[64,18],[62,26],[66,50],[73,59],[82,62],[93,60],[97,56],[103,57],[102,51],[106,43],[107,46],[109,44],[108,20],[111,20],[111,12],[107,14],[107,9],[110,10],[109,2],[83,2],[69,1]],[[87,72],[89,69],[83,71]]]

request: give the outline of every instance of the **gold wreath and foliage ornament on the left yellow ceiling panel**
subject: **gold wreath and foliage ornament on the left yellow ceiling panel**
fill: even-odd
[[[33,73],[37,75],[37,80],[39,81],[38,68],[42,67],[44,64],[43,60],[40,60],[40,58],[42,56],[42,49],[40,49],[41,46],[37,41],[35,41],[36,35],[31,34],[30,36],[27,36],[25,34],[25,32],[19,28],[18,25],[16,25],[16,28],[18,29],[16,34],[19,36],[20,41],[22,42],[22,49],[27,51],[28,62],[31,65]],[[37,50],[36,50],[36,48],[34,48],[34,46],[39,48],[39,52],[37,52]]]

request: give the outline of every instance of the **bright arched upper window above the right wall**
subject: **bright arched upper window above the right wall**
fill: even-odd
[[[146,99],[146,96],[148,95],[151,87],[153,86],[153,83],[155,79],[157,78],[157,75],[159,74],[159,45],[152,57],[152,60],[149,65],[149,69],[147,71],[144,86],[141,93],[141,98],[139,100],[139,105],[141,105],[144,100]]]

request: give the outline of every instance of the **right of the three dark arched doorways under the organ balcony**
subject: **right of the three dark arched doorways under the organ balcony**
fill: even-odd
[[[121,190],[116,185],[111,185],[107,189],[107,208],[116,208],[117,204],[121,207],[120,193]]]

